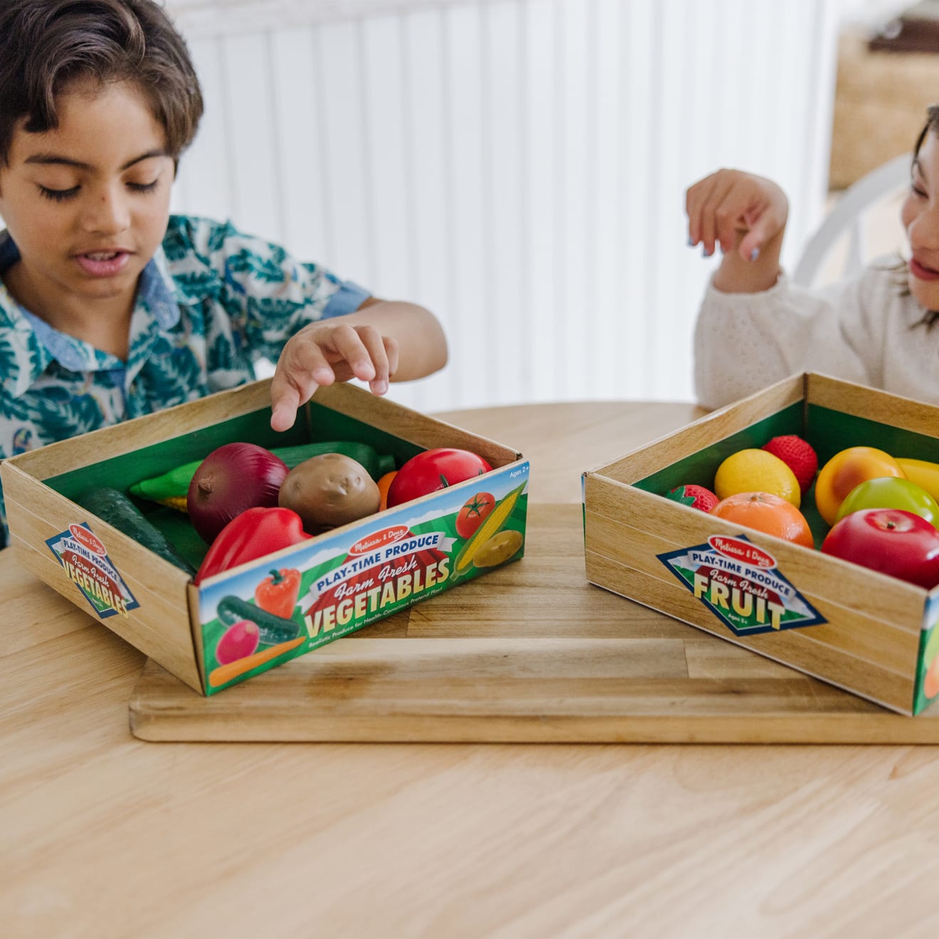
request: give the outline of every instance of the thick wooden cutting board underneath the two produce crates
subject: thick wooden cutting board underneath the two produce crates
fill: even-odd
[[[131,731],[172,741],[939,743],[885,711],[587,583],[577,505],[525,557],[203,698],[147,661]]]

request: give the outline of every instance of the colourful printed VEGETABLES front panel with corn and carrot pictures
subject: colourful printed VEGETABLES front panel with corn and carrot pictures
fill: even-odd
[[[528,463],[496,469],[211,578],[198,599],[207,693],[521,558],[528,477]]]

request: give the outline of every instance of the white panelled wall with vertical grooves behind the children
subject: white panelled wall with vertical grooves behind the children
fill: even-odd
[[[690,399],[716,259],[685,187],[824,208],[844,0],[171,0],[207,115],[174,209],[232,218],[444,323],[423,409]]]

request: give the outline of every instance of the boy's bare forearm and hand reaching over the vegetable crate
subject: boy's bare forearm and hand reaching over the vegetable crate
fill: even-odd
[[[447,362],[443,330],[414,303],[369,298],[354,313],[309,323],[284,347],[270,385],[274,430],[291,427],[319,385],[359,378],[373,393],[421,378]]]

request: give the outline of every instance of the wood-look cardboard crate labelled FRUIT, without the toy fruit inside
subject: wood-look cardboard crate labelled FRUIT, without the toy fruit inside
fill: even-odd
[[[923,590],[665,497],[773,437],[819,466],[866,445],[939,462],[939,408],[820,375],[786,379],[583,475],[599,587],[906,715],[939,694],[939,588]],[[821,545],[814,490],[803,513]]]

